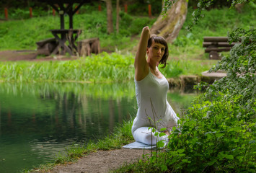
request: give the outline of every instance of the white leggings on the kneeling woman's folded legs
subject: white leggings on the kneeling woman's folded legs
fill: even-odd
[[[133,138],[135,141],[145,143],[147,145],[156,145],[156,142],[161,140],[167,141],[167,135],[158,137],[157,140],[156,136],[154,136],[154,133],[152,133],[151,130],[152,129],[149,129],[149,127],[138,128],[133,132]]]

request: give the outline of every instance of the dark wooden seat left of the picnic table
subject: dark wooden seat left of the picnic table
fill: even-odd
[[[50,56],[50,54],[58,46],[58,43],[54,37],[40,40],[37,43],[37,55]]]

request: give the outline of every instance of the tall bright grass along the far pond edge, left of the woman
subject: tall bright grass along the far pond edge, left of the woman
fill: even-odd
[[[0,63],[4,81],[110,82],[133,79],[133,56],[101,53],[76,61]]]

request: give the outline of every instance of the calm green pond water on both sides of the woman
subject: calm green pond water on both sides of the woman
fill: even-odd
[[[182,114],[197,95],[172,91]],[[74,143],[111,133],[136,115],[133,82],[127,84],[0,83],[0,172],[19,172],[53,161]]]

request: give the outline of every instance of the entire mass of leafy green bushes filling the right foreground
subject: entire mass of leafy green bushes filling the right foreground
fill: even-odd
[[[211,71],[227,76],[208,86],[175,130],[165,161],[172,172],[255,172],[256,30],[234,29],[231,49]],[[198,84],[198,88],[206,86]],[[178,152],[179,151],[179,152]]]

